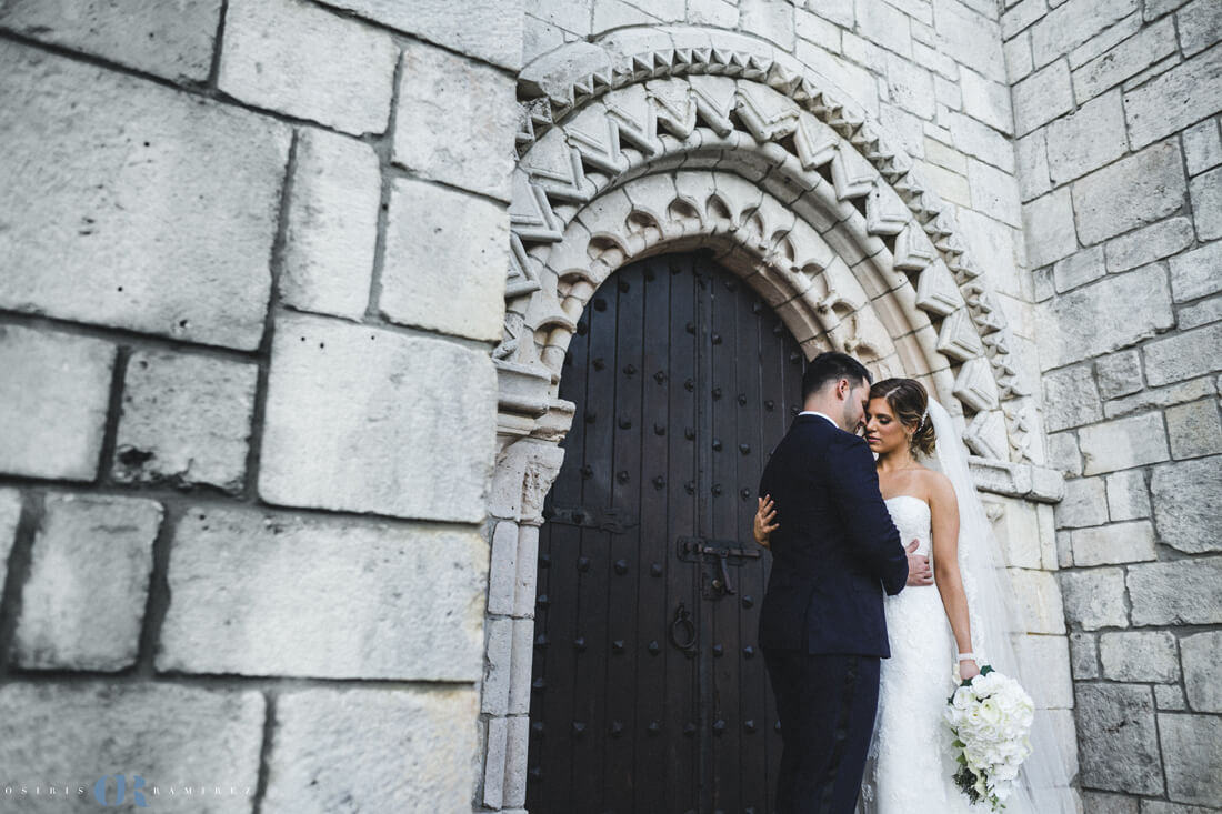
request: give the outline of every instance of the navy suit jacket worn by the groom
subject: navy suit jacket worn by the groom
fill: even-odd
[[[760,495],[776,502],[763,648],[887,658],[882,592],[899,593],[908,557],[879,493],[865,441],[798,416],[772,452]]]

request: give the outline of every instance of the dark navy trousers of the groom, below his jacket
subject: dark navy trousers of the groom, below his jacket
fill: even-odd
[[[879,658],[765,649],[785,749],[776,814],[853,814],[879,705]]]

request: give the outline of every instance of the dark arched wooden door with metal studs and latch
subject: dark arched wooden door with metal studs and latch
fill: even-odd
[[[595,292],[540,535],[532,814],[771,812],[781,739],[752,518],[802,369],[776,314],[701,255],[643,260]]]

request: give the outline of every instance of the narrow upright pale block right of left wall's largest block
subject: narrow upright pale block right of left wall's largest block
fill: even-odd
[[[302,130],[288,200],[280,302],[359,319],[369,304],[381,170],[373,148]]]

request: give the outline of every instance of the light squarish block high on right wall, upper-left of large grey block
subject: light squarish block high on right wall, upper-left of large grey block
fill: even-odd
[[[1121,93],[1108,93],[1048,125],[1048,174],[1053,186],[1086,175],[1124,155]]]

